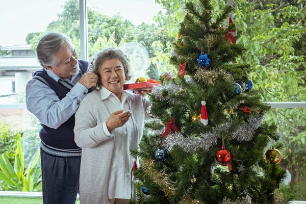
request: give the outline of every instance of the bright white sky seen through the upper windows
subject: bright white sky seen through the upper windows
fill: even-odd
[[[28,33],[44,32],[48,23],[57,20],[57,14],[63,10],[64,3],[64,0],[2,1],[0,45],[25,44]],[[161,6],[155,4],[155,0],[88,0],[87,3],[89,8],[109,16],[119,12],[135,25],[142,21],[154,23],[153,16],[161,10]]]

